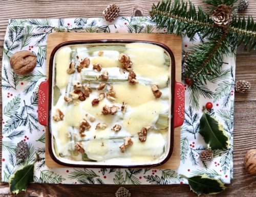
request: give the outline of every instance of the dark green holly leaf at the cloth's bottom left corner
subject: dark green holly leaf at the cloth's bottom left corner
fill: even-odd
[[[26,191],[28,184],[34,181],[34,164],[17,168],[9,179],[10,191],[16,195]]]

